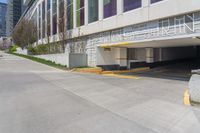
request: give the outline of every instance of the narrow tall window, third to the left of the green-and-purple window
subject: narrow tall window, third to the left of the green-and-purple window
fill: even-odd
[[[57,0],[52,0],[53,6],[53,35],[57,33]]]

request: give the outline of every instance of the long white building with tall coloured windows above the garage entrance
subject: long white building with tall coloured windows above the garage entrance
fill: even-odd
[[[38,44],[61,41],[89,66],[126,69],[193,58],[200,45],[199,0],[38,0],[26,18]],[[64,19],[64,28],[60,21]]]

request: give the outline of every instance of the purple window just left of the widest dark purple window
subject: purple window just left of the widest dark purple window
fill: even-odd
[[[117,0],[104,0],[103,1],[104,18],[116,15],[117,13],[116,7],[117,7]]]

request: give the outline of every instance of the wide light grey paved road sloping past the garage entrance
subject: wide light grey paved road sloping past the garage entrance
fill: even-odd
[[[186,81],[64,72],[0,52],[0,133],[199,133]]]

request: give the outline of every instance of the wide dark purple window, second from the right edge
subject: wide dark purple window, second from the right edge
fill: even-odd
[[[130,11],[142,6],[142,0],[124,0],[124,12]]]

